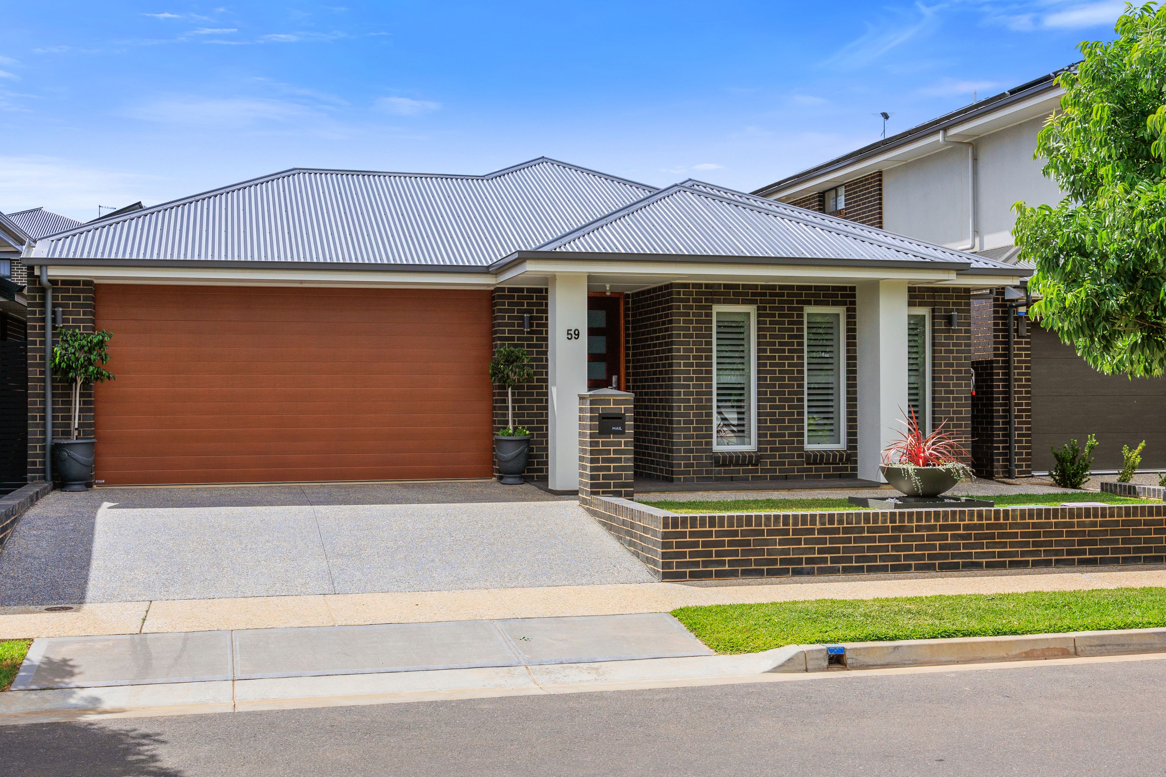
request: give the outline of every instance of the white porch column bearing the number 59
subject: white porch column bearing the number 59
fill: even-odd
[[[580,487],[580,394],[586,393],[586,275],[552,275],[548,287],[548,486],[569,492]]]

